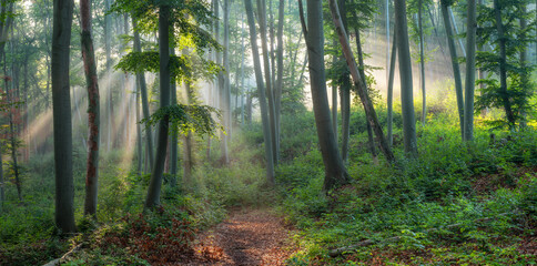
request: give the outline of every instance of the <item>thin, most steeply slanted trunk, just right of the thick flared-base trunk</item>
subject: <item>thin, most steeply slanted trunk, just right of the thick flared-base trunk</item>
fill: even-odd
[[[384,133],[381,124],[378,123],[375,109],[373,108],[373,103],[371,102],[371,99],[367,95],[367,90],[358,72],[358,66],[356,65],[356,61],[354,60],[351,45],[348,44],[347,33],[343,28],[343,23],[340,17],[340,11],[337,9],[337,3],[335,0],[330,0],[328,6],[332,13],[332,20],[336,28],[337,37],[340,39],[340,43],[342,44],[343,54],[345,55],[348,70],[351,71],[351,76],[353,78],[354,85],[357,89],[359,100],[362,101],[362,105],[364,106],[365,115],[367,116],[367,122],[373,126],[373,131],[375,132],[375,135],[378,137],[379,144],[381,144],[381,151],[386,156],[386,160],[388,162],[394,162],[395,161],[394,154],[392,153],[392,150],[389,149],[386,142],[386,139],[384,137]]]

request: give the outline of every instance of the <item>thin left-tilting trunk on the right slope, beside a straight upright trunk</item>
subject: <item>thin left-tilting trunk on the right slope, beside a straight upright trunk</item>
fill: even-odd
[[[452,22],[447,12],[447,0],[440,0],[442,17],[444,18],[444,27],[447,34],[447,45],[449,54],[452,55],[453,75],[455,80],[455,93],[457,95],[458,119],[460,123],[460,135],[464,135],[464,98],[463,98],[463,81],[460,80],[460,70],[458,66],[457,49],[455,48],[454,34],[452,30]]]

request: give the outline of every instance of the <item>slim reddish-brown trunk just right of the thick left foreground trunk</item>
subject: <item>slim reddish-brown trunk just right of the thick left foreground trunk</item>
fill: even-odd
[[[91,38],[91,0],[80,0],[81,49],[84,61],[88,88],[88,163],[85,174],[84,215],[97,218],[97,196],[99,188],[99,78],[97,75],[95,52]]]

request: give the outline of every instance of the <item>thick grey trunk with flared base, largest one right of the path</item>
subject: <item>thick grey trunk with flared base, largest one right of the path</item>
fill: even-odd
[[[302,1],[298,2],[302,6]],[[313,111],[317,127],[318,143],[323,156],[325,178],[324,190],[330,191],[348,183],[348,174],[337,151],[337,142],[332,130],[328,99],[326,94],[326,78],[324,69],[324,33],[323,2],[307,0],[307,54],[310,59],[310,85],[312,89]]]

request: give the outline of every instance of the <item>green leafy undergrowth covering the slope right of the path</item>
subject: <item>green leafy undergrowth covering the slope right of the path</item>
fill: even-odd
[[[300,229],[294,238],[301,246],[287,263],[536,264],[537,131],[478,127],[475,141],[463,143],[452,121],[439,114],[418,125],[418,158],[405,158],[395,142],[392,167],[374,163],[366,132],[356,131],[347,165],[352,182],[334,191],[323,191],[315,144],[282,164],[280,209]],[[371,244],[330,255],[364,242]]]

